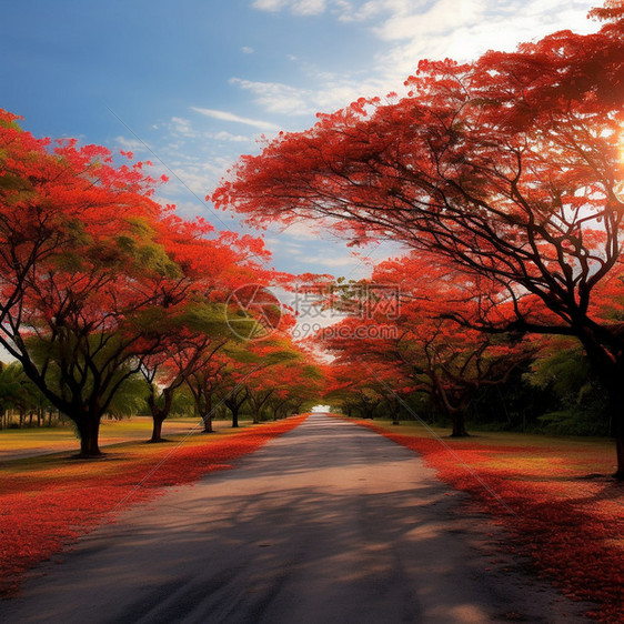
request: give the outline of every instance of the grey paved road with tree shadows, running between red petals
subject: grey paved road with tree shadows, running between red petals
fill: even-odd
[[[46,564],[6,624],[587,622],[411,451],[303,425]]]

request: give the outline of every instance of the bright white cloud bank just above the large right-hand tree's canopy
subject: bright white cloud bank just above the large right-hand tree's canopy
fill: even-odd
[[[401,91],[421,59],[467,61],[483,52],[514,50],[517,43],[568,28],[590,32],[600,24],[586,19],[595,0],[256,0],[255,9],[309,14],[321,10],[342,22],[360,22],[381,46],[365,76],[328,74],[310,64],[300,73],[306,88],[280,82],[232,82],[254,95],[269,112],[309,114],[342,108],[359,97]],[[295,60],[292,58],[291,60]]]

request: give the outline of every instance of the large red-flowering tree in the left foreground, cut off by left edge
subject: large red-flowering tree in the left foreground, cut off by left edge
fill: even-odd
[[[102,414],[168,345],[163,319],[222,296],[205,275],[249,281],[228,268],[243,258],[233,249],[251,256],[262,242],[209,241],[210,224],[151,199],[141,163],[117,165],[73,140],[51,145],[16,121],[0,113],[0,344],[76,423],[81,455],[99,455]]]

